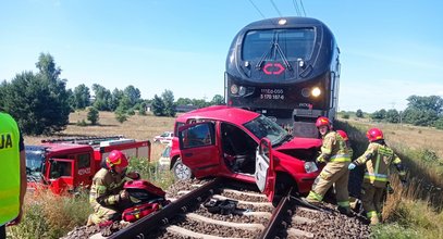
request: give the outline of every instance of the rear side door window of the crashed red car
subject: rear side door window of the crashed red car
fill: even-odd
[[[183,135],[185,136],[183,140],[184,148],[194,148],[213,144],[211,131],[213,131],[213,124],[196,125],[184,130],[183,131]]]

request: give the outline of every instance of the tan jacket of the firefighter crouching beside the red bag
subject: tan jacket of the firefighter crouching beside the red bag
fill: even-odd
[[[123,190],[124,175],[101,168],[96,173],[90,187],[89,202],[93,206],[112,206],[122,201],[120,192]]]

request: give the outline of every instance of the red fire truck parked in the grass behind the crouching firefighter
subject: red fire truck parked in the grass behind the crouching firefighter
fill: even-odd
[[[26,146],[28,188],[47,187],[54,193],[73,192],[89,187],[103,159],[112,150],[128,158],[150,159],[150,141],[136,141],[122,136],[42,140],[40,146]]]

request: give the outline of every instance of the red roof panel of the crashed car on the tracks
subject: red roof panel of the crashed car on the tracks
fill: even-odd
[[[238,108],[226,105],[213,105],[198,109],[177,117],[177,122],[186,122],[188,118],[208,118],[214,121],[231,122],[237,125],[243,125],[258,117],[260,114]]]

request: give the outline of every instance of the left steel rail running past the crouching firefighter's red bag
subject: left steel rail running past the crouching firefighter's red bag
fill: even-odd
[[[110,239],[128,239],[128,238],[149,238],[149,232],[158,229],[162,225],[169,224],[169,221],[173,218],[176,214],[183,213],[187,210],[187,206],[195,203],[201,203],[205,199],[202,198],[206,193],[212,194],[214,189],[219,188],[222,184],[223,178],[216,178],[210,183],[205,184],[196,190],[184,194],[174,202],[164,206],[162,210],[152,213],[128,227],[120,230],[112,236]]]

